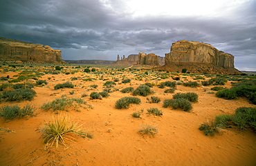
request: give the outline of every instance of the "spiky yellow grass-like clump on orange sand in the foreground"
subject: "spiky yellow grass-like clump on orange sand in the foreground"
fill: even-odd
[[[68,133],[74,133],[78,135],[84,134],[84,130],[81,129],[81,125],[71,121],[71,118],[59,115],[57,118],[53,118],[53,121],[49,121],[42,128],[42,134],[44,138],[44,143],[47,147],[52,147],[54,144],[56,148],[59,143],[66,146],[66,141],[75,141],[73,136],[68,135]]]

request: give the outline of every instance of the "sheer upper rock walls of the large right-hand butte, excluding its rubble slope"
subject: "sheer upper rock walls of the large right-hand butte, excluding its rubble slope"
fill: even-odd
[[[176,41],[165,54],[165,65],[174,63],[208,63],[223,68],[234,68],[234,56],[199,41]]]

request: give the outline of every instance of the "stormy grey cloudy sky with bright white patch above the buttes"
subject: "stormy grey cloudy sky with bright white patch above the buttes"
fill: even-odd
[[[256,71],[256,0],[0,0],[0,36],[64,60],[165,56],[176,41],[203,41]]]

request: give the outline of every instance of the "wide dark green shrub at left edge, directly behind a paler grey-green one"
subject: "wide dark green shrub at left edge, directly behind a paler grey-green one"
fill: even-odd
[[[7,90],[2,92],[2,98],[5,101],[30,101],[35,94],[35,90],[31,89]]]

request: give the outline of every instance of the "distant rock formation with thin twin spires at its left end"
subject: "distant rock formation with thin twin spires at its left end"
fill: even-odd
[[[117,61],[114,62],[112,65],[164,65],[165,64],[165,57],[158,56],[154,53],[146,54],[141,53],[139,54],[130,54],[127,58],[125,55],[121,57],[118,55]]]

